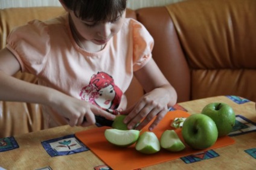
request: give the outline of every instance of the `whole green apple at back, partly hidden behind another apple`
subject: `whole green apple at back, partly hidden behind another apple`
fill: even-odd
[[[209,103],[201,114],[208,115],[215,122],[219,137],[228,135],[235,125],[235,112],[226,103]]]

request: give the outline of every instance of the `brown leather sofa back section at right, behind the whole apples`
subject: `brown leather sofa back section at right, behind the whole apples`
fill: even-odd
[[[191,70],[191,100],[219,95],[256,100],[255,7],[254,0],[168,5]]]

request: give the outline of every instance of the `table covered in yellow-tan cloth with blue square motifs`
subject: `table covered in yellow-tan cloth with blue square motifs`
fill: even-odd
[[[236,102],[234,102],[236,100]],[[236,115],[242,115],[251,123],[256,123],[255,103],[235,96],[217,96],[206,99],[178,103],[174,109],[185,109],[190,114],[200,113],[202,108],[211,102],[224,102],[231,105]],[[245,102],[245,103],[243,103]],[[238,104],[241,103],[241,104]],[[254,131],[254,126],[252,131]],[[4,169],[100,169],[105,165],[90,150],[66,156],[51,157],[42,147],[42,141],[76,132],[95,128],[61,126],[39,132],[14,136],[19,148],[0,152],[0,167]],[[97,128],[97,127],[96,127]],[[232,136],[235,144],[214,149],[219,156],[194,163],[185,163],[175,159],[141,169],[255,169],[256,157],[246,153],[246,150],[256,154],[256,131],[243,135]],[[1,141],[0,141],[1,144]],[[0,147],[1,148],[1,147]],[[252,150],[254,149],[254,150]],[[1,168],[0,168],[1,169]]]

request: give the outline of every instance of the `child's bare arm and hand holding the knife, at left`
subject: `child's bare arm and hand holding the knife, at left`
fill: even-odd
[[[110,120],[115,118],[114,115],[88,102],[11,76],[20,69],[18,60],[8,49],[0,50],[0,100],[48,105],[66,118],[70,126],[94,124],[94,115]],[[83,122],[84,118],[86,122]]]

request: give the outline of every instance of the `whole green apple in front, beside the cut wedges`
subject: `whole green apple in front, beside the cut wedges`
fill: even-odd
[[[197,150],[211,147],[218,138],[216,124],[203,114],[190,115],[184,121],[181,133],[185,143]]]

